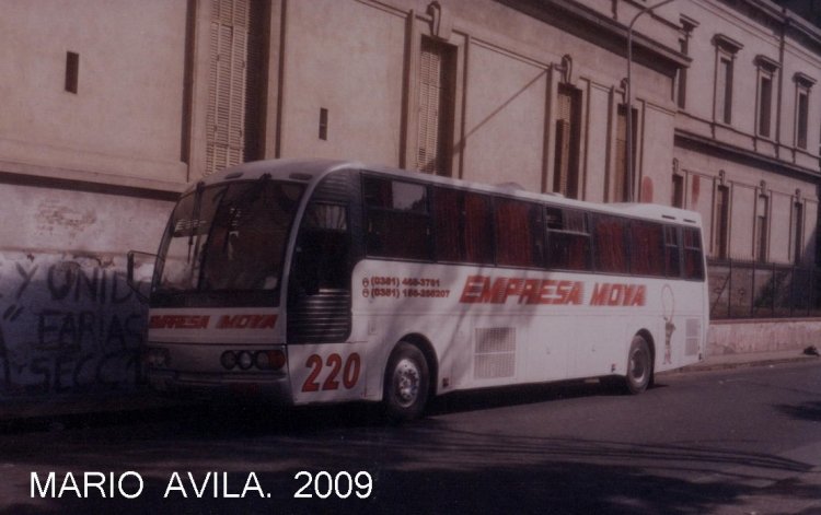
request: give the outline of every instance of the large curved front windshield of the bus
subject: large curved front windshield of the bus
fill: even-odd
[[[247,294],[257,292],[256,299],[269,304],[279,289],[303,190],[299,184],[263,178],[200,187],[183,197],[160,247],[153,294],[158,300],[181,293],[215,300],[236,292],[254,299]]]

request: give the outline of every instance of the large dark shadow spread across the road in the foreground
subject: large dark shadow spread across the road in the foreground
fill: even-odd
[[[344,413],[348,419],[338,418]],[[176,414],[180,422],[169,429],[136,425],[143,429],[124,429],[114,437],[100,437],[95,430],[53,431],[43,433],[36,455],[7,449],[9,458],[27,468],[4,471],[15,494],[3,496],[0,513],[124,515],[148,507],[160,513],[389,513],[401,506],[405,513],[674,515],[709,513],[753,494],[756,482],[809,469],[760,453],[500,435],[455,429],[437,418],[390,428],[375,423],[369,407],[292,410],[279,419],[239,407],[189,408]],[[77,499],[73,492],[58,500],[28,499],[31,471],[45,476],[54,470],[58,483],[65,471],[135,470],[144,488],[135,500]],[[304,483],[294,478],[300,470],[332,476],[363,470],[373,478],[373,491],[365,500],[333,494],[293,499]],[[188,471],[204,499],[197,499]],[[222,471],[229,473],[228,483],[201,489],[207,480],[222,481]],[[187,496],[169,490],[174,472],[183,478]],[[208,472],[215,476],[208,479]],[[223,499],[223,489],[240,494],[251,472],[270,498],[252,490],[244,499]],[[317,488],[325,490],[324,484]],[[794,498],[816,494],[814,489],[790,490]]]

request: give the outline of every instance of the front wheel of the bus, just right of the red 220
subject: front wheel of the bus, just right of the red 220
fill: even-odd
[[[384,408],[388,419],[403,422],[417,419],[425,410],[430,391],[430,374],[425,354],[414,344],[401,341],[385,368]]]

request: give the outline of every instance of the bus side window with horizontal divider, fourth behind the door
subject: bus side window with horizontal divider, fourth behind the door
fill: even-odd
[[[558,270],[590,270],[590,232],[581,211],[545,208],[545,266]]]

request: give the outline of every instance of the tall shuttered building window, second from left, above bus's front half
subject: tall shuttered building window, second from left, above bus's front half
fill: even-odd
[[[451,175],[455,67],[455,47],[421,38],[416,167],[428,174]]]

